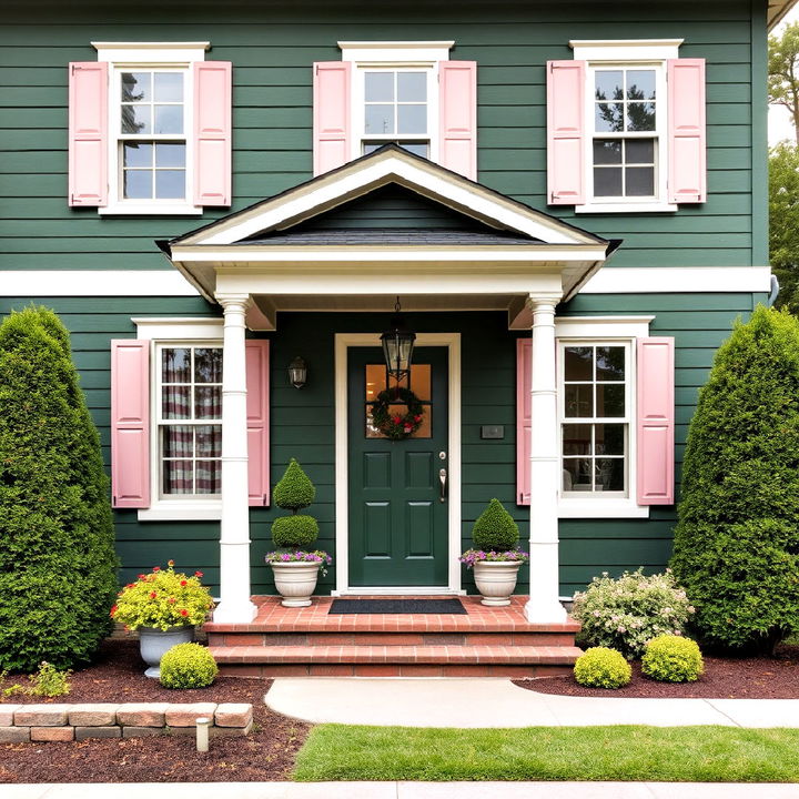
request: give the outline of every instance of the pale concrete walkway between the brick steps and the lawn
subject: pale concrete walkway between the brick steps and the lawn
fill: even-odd
[[[799,728],[799,699],[630,699],[538,694],[507,679],[280,678],[266,695],[276,712],[314,724],[402,727]],[[798,795],[799,796],[799,795]]]

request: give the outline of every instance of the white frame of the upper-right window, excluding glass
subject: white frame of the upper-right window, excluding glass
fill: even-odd
[[[674,213],[678,206],[668,202],[668,87],[666,62],[679,57],[682,39],[651,40],[573,40],[569,45],[577,60],[586,62],[585,91],[585,185],[586,202],[575,206],[575,213]],[[598,69],[654,69],[656,71],[656,127],[651,135],[645,132],[633,138],[655,139],[654,198],[595,198],[594,196],[594,139],[627,139],[618,134],[603,135],[594,130],[595,75]],[[648,133],[648,132],[647,132]]]

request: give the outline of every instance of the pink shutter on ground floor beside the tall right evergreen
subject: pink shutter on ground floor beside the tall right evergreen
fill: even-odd
[[[672,505],[675,340],[638,340],[638,504]]]

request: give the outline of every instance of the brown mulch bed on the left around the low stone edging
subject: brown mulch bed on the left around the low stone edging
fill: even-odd
[[[193,736],[94,739],[72,744],[0,745],[2,782],[250,782],[289,779],[310,725],[272,712],[264,705],[271,680],[218,677],[201,690],[169,690],[144,677],[136,641],[107,641],[97,661],[70,678],[63,697],[16,695],[28,702],[252,702],[255,729],[242,738],[212,738],[196,751]],[[7,679],[27,684],[24,677]]]

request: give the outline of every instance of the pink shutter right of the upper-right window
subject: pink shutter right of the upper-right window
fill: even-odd
[[[705,59],[668,62],[668,199],[699,203],[707,199]]]

